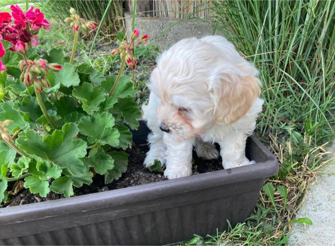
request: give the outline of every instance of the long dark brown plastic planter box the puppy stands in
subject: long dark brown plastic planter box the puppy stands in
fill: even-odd
[[[145,144],[144,122],[134,132]],[[233,169],[0,209],[2,245],[166,244],[216,234],[247,218],[264,178],[278,171],[273,154],[254,136]]]

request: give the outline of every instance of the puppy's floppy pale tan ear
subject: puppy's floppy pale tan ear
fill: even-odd
[[[240,73],[219,73],[209,87],[214,102],[214,119],[229,125],[241,119],[260,94],[259,79]]]

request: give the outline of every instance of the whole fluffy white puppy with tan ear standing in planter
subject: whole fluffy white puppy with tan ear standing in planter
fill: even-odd
[[[192,149],[215,158],[220,145],[223,167],[254,163],[245,157],[263,101],[252,64],[221,36],[184,39],[157,61],[148,85],[143,117],[152,131],[145,166],[166,164],[169,179],[192,174]]]

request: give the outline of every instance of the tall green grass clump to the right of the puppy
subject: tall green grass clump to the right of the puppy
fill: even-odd
[[[215,27],[260,71],[259,130],[333,136],[334,1],[214,1]]]

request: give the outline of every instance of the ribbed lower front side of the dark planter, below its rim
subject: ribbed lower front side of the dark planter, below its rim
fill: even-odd
[[[264,179],[252,180],[255,190],[198,203],[141,213],[33,235],[0,240],[1,245],[160,245],[205,236],[227,229],[248,217],[256,203]],[[249,182],[245,183],[250,185]],[[220,186],[218,189],[232,188]],[[201,191],[199,191],[201,192]],[[205,191],[207,194],[209,190]],[[199,195],[199,194],[198,194]],[[196,196],[194,194],[194,196]],[[157,204],[159,206],[159,203]],[[134,207],[134,209],[136,209]]]

